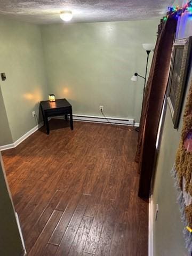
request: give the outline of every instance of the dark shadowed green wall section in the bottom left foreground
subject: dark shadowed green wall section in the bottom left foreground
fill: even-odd
[[[0,161],[0,255],[21,256],[22,243],[4,179],[1,153]]]

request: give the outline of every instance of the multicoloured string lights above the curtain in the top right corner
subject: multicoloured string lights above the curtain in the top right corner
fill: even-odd
[[[169,6],[168,10],[169,11],[167,12],[166,16],[163,17],[163,21],[166,21],[170,15],[174,15],[176,18],[178,18],[185,11],[192,12],[192,0],[190,0],[187,4],[183,5],[182,7],[180,7],[179,5]]]

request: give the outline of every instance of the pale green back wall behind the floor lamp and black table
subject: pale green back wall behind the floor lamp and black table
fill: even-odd
[[[139,122],[145,75],[142,43],[155,43],[159,20],[42,26],[49,93],[67,98],[75,114],[133,118]],[[152,54],[150,56],[150,59]]]

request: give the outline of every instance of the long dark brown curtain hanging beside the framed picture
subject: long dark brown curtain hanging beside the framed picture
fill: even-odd
[[[138,150],[135,158],[136,161],[139,161],[139,196],[143,198],[148,198],[150,195],[158,124],[169,78],[171,52],[176,29],[177,18],[170,17],[167,19],[157,39],[146,87]]]

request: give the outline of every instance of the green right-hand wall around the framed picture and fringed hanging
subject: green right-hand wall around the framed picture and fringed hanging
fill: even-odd
[[[182,2],[179,4],[182,4]],[[177,38],[184,38],[192,35],[191,18],[184,15],[178,24]],[[191,79],[192,69],[188,79],[187,91]],[[185,106],[185,103],[183,106]],[[180,218],[179,204],[176,202],[177,190],[174,187],[174,180],[170,173],[174,164],[175,153],[179,145],[182,129],[182,115],[179,129],[173,129],[170,109],[167,107],[153,191],[154,213],[156,204],[159,206],[157,221],[155,221],[155,216],[153,216],[154,256],[188,255],[182,234],[183,223]]]

